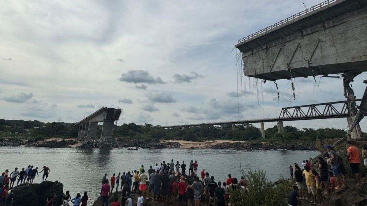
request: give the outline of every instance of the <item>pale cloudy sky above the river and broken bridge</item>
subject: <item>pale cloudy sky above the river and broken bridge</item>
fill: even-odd
[[[77,122],[106,106],[123,110],[118,125],[166,126],[278,117],[282,107],[345,100],[342,79],[295,78],[296,100],[290,80],[277,80],[278,99],[274,82],[241,72],[237,40],[304,10],[302,1],[320,0],[5,0],[0,118]],[[363,79],[352,83],[357,98]]]

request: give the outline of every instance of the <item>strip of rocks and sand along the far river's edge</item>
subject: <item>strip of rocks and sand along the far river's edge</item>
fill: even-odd
[[[179,140],[178,140],[179,141]],[[79,147],[79,148],[126,148],[126,147],[138,147],[138,148],[180,148],[182,145],[178,141],[167,141],[159,139],[85,139],[83,142],[77,140],[48,140],[42,142],[29,142],[29,141],[0,141],[0,147],[48,147],[48,148],[67,148],[67,147]],[[79,144],[79,145],[78,145]],[[189,147],[190,149],[196,148],[215,148],[215,149],[240,149],[240,150],[317,150],[315,144],[312,143],[287,143],[282,145],[270,144],[267,142],[221,142],[215,143],[215,141],[207,141],[199,144],[199,146]],[[202,145],[202,146],[201,146]]]

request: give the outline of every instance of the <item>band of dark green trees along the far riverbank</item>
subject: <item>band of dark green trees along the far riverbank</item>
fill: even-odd
[[[77,137],[78,130],[73,127],[74,123],[66,122],[40,122],[24,120],[5,120],[0,119],[0,138],[23,137],[30,141],[42,140],[47,137],[59,137],[63,139]],[[101,134],[102,125],[98,125],[97,135]],[[339,138],[346,134],[345,129],[324,128],[298,128],[292,126],[284,127],[284,134],[277,133],[277,126],[265,130],[267,141],[272,144],[281,144],[287,141],[315,141],[316,138]],[[254,140],[263,141],[259,128],[254,125],[248,126],[232,125],[211,126],[203,125],[191,128],[171,128],[163,129],[160,126],[151,124],[137,125],[134,123],[115,125],[113,132],[117,139],[176,139],[188,141],[202,140]],[[366,133],[363,133],[367,137]]]

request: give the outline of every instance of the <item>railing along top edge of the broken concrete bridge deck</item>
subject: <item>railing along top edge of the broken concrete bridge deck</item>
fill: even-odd
[[[250,39],[252,37],[258,36],[259,34],[265,33],[265,32],[267,32],[269,30],[275,29],[276,27],[281,26],[284,23],[291,22],[291,21],[293,21],[295,19],[298,19],[299,17],[301,17],[303,15],[306,15],[306,14],[309,14],[309,13],[314,12],[316,10],[319,10],[320,8],[322,8],[324,6],[327,6],[329,4],[333,4],[333,3],[337,2],[337,1],[340,1],[340,0],[326,0],[326,1],[323,1],[323,2],[321,2],[319,4],[317,4],[317,5],[314,5],[313,7],[310,7],[308,9],[306,9],[306,10],[303,10],[301,12],[298,12],[297,14],[294,14],[294,15],[286,18],[286,19],[283,19],[283,20],[281,20],[281,21],[279,21],[279,22],[277,22],[277,23],[275,23],[273,25],[270,25],[268,27],[265,27],[264,29],[261,29],[261,30],[255,32],[255,33],[252,33],[252,34],[250,34],[250,35],[248,35],[246,37],[243,37],[240,40],[238,40],[238,43],[241,43],[243,41],[246,41],[246,40],[248,40],[248,39]]]

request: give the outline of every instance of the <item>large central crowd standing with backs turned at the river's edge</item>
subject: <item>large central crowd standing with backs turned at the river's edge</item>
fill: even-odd
[[[189,171],[186,173],[184,161],[170,163],[165,161],[155,166],[150,166],[146,171],[144,165],[139,170],[113,173],[110,178],[107,173],[102,178],[101,199],[102,206],[108,206],[109,195],[121,192],[123,199],[118,202],[116,199],[111,206],[131,206],[131,191],[137,192],[137,206],[142,206],[144,198],[152,195],[152,201],[162,202],[173,206],[199,206],[201,199],[205,199],[206,204],[227,206],[229,203],[228,190],[246,190],[244,177],[241,180],[228,178],[221,182],[215,181],[214,176],[210,176],[205,169],[197,174],[198,163],[191,161]],[[121,185],[120,185],[121,182]],[[120,185],[120,188],[119,188]],[[115,189],[116,186],[116,189]],[[119,191],[120,190],[120,191]],[[149,195],[150,194],[150,195]]]

